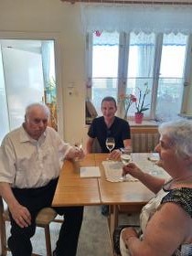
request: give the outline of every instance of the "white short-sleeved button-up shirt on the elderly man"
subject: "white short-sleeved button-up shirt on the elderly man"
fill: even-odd
[[[0,182],[11,187],[43,187],[59,176],[63,159],[71,146],[59,133],[47,127],[37,140],[23,126],[8,133],[0,148]]]

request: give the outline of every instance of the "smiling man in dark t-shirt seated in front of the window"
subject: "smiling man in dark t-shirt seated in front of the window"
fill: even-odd
[[[113,137],[115,141],[114,149],[110,158],[117,160],[120,157],[120,148],[131,146],[130,126],[122,118],[115,116],[117,111],[116,101],[112,97],[105,97],[101,101],[102,116],[95,118],[88,132],[86,144],[87,153],[92,152],[92,144],[95,138],[101,146],[102,153],[109,153],[105,142],[107,137]]]

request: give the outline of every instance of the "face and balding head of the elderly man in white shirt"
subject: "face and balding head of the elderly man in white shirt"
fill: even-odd
[[[46,131],[48,126],[48,110],[45,106],[34,105],[28,109],[24,127],[27,133],[35,140]]]

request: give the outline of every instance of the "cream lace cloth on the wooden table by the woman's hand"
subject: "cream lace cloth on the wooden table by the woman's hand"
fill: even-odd
[[[138,179],[133,176],[126,175],[125,179],[122,179],[122,162],[114,161],[103,161],[102,165],[104,166],[105,176],[108,181],[111,182],[124,182],[124,181],[137,181]]]

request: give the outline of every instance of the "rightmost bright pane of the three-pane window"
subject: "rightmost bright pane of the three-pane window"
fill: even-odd
[[[186,49],[187,36],[164,35],[155,112],[158,119],[174,119],[180,113]]]

